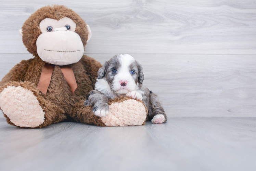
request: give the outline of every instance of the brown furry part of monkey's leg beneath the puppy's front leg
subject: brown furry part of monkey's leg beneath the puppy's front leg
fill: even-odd
[[[85,106],[85,101],[81,100],[77,102],[71,109],[70,115],[75,121],[87,124],[93,124],[97,126],[105,126],[101,121],[101,117],[94,115],[91,106]]]

